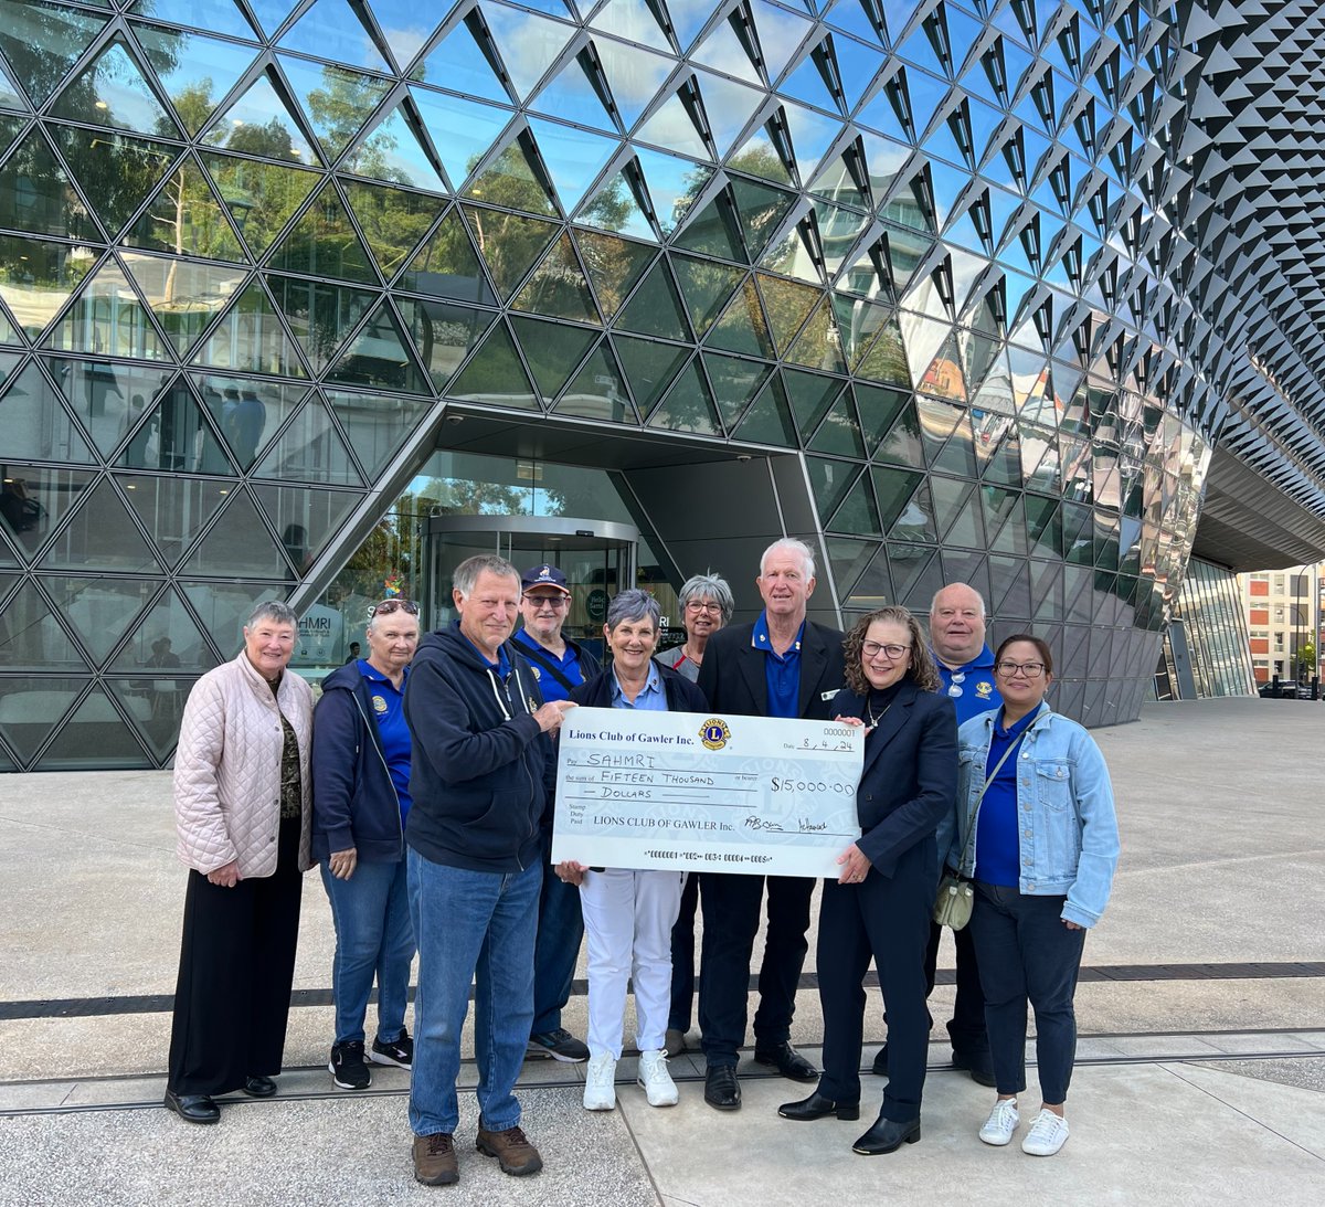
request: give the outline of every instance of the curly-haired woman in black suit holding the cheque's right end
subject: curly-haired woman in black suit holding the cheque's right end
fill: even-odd
[[[925,947],[938,886],[934,832],[957,795],[957,714],[935,696],[938,670],[905,608],[861,617],[844,648],[847,686],[837,719],[865,726],[856,794],[860,839],[824,881],[819,910],[819,999],[824,1072],[815,1092],[778,1114],[860,1118],[864,979],[873,958],[888,1011],[888,1088],[874,1125],[853,1149],[867,1157],[920,1139],[929,1052]]]

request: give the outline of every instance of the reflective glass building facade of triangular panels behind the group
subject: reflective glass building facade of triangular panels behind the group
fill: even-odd
[[[1194,545],[1325,550],[1320,26],[0,0],[0,770],[167,761],[460,432],[610,470],[680,576],[970,582],[1134,717]]]

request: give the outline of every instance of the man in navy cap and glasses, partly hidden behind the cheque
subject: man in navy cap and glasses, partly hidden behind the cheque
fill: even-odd
[[[598,658],[568,637],[562,625],[570,612],[566,575],[555,566],[534,566],[519,582],[523,627],[511,639],[538,676],[543,700],[566,700],[572,688],[598,674]],[[553,856],[553,811],[543,815],[543,863]],[[584,938],[579,889],[555,876],[543,877],[534,951],[534,1027],[530,1056],[551,1056],[578,1064],[588,1048],[562,1027],[562,1010],[571,996],[575,961]]]

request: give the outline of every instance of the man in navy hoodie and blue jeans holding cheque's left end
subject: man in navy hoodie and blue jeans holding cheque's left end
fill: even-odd
[[[456,1077],[470,982],[478,1151],[507,1174],[543,1167],[513,1089],[534,1018],[539,823],[556,770],[547,735],[574,705],[543,704],[510,644],[519,595],[510,562],[461,562],[452,582],[458,619],[423,639],[405,689],[413,737],[405,843],[419,941],[409,1126],[415,1178],[431,1186],[458,1179]]]

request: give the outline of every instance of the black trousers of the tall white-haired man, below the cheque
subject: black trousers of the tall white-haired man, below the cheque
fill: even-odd
[[[796,988],[810,943],[808,876],[704,877],[704,946],[700,954],[700,1029],[710,1065],[735,1065],[750,1011],[750,953],[759,930],[765,881],[768,885],[768,933],[759,969],[755,1048],[791,1037]]]

